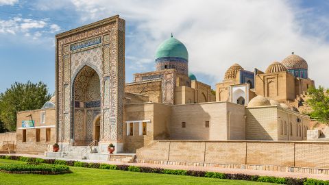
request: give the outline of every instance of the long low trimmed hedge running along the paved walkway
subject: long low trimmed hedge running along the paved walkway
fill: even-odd
[[[171,175],[188,175],[195,177],[208,177],[208,178],[218,178],[218,179],[228,179],[228,180],[248,180],[254,182],[271,182],[276,184],[289,184],[289,185],[329,185],[329,181],[324,180],[314,180],[308,178],[297,179],[293,177],[270,177],[270,176],[258,176],[258,175],[247,175],[247,174],[231,174],[231,173],[218,173],[210,171],[193,171],[193,170],[173,170],[173,169],[160,169],[160,168],[151,168],[151,167],[135,167],[129,165],[114,165],[114,164],[99,164],[93,162],[80,162],[73,160],[54,160],[54,159],[41,159],[41,158],[27,158],[27,157],[17,157],[17,156],[5,156],[0,155],[1,159],[11,159],[11,160],[21,160],[25,162],[34,162],[34,163],[46,163],[46,164],[28,164],[32,165],[32,169],[35,166],[50,166],[55,168],[66,167],[66,170],[69,170],[69,167],[86,167],[86,168],[95,168],[95,169],[110,169],[110,170],[121,170],[121,171],[133,171],[141,173],[162,173],[162,174],[171,174]],[[47,165],[55,164],[55,165]],[[66,166],[64,165],[66,164]],[[11,165],[11,164],[10,164]],[[20,164],[22,165],[22,164]],[[24,164],[23,164],[24,165]],[[6,166],[6,165],[2,165]],[[26,164],[25,164],[26,166]],[[17,167],[18,168],[18,167]],[[50,168],[51,169],[51,168]],[[49,170],[50,170],[49,169]],[[1,170],[1,169],[0,169]],[[63,169],[64,170],[64,169]]]

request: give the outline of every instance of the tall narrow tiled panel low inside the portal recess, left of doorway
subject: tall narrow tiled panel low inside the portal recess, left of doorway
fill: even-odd
[[[74,140],[84,140],[84,111],[74,112]]]

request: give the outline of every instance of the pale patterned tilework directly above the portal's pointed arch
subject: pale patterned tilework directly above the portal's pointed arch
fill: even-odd
[[[85,65],[92,67],[97,73],[101,74],[100,71],[103,64],[102,53],[101,47],[95,47],[71,54],[71,77],[75,77]]]

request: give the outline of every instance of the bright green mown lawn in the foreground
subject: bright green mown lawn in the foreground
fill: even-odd
[[[0,159],[0,164],[20,163]],[[138,173],[130,171],[70,167],[64,175],[32,175],[0,173],[0,184],[269,184],[242,180],[220,180],[206,177]]]

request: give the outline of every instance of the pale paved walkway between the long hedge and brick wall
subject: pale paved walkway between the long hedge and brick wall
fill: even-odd
[[[29,155],[22,153],[13,153],[6,154],[11,156],[25,156],[32,158],[44,158],[49,159],[45,156]],[[60,160],[77,160],[77,159],[66,159],[58,158]],[[77,160],[82,162],[99,162],[106,164],[127,164],[134,165],[138,167],[153,167],[153,168],[162,168],[162,169],[183,169],[183,170],[196,170],[196,171],[214,171],[221,173],[243,173],[248,175],[260,175],[260,176],[275,176],[275,177],[295,177],[295,178],[313,178],[318,180],[329,180],[329,175],[322,174],[310,174],[310,173],[295,173],[295,172],[281,172],[281,171],[262,171],[262,170],[250,170],[250,169],[222,169],[218,167],[192,167],[192,166],[180,166],[180,165],[169,165],[169,164],[148,164],[148,163],[122,163],[122,162],[113,162],[105,160]]]

